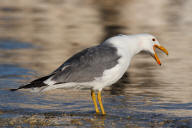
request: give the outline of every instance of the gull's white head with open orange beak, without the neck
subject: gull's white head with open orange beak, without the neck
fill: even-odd
[[[156,60],[156,62],[161,65],[160,59],[157,56],[156,48],[168,55],[168,51],[160,45],[157,38],[151,34],[138,34],[140,48],[142,51],[146,51]]]

